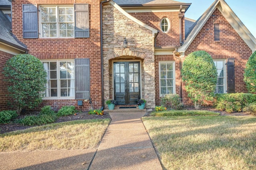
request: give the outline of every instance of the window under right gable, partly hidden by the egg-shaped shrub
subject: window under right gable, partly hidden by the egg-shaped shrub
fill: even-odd
[[[215,93],[226,93],[226,66],[225,60],[214,60],[214,64],[217,68],[218,79],[216,84]]]

